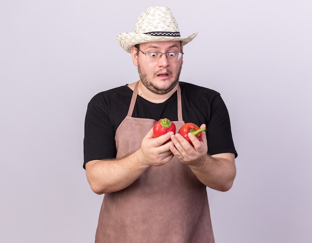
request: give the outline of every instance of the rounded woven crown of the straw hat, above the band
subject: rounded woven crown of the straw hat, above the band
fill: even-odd
[[[135,32],[179,32],[178,24],[167,7],[153,6],[146,9],[137,19]]]

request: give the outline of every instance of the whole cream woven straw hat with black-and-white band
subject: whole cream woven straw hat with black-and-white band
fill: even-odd
[[[179,27],[171,11],[167,7],[149,7],[137,19],[135,33],[117,35],[122,48],[131,53],[131,48],[137,44],[156,41],[181,41],[182,45],[192,41],[198,32],[182,38]]]

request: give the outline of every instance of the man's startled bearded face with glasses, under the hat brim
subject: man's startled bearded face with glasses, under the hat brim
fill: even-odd
[[[142,43],[140,50],[145,52],[181,52],[179,41],[159,41]],[[139,53],[137,53],[139,52]],[[147,60],[145,54],[136,47],[132,48],[133,63],[138,66],[141,82],[155,94],[166,94],[176,86],[183,63],[183,56],[175,62],[168,62],[163,54],[158,61]]]

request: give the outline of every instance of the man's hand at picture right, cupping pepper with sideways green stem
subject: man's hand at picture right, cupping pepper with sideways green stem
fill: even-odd
[[[200,126],[200,128],[202,127],[205,127],[205,124]],[[203,163],[208,152],[206,132],[202,131],[200,141],[190,132],[188,137],[194,147],[179,133],[171,135],[170,138],[174,143],[174,146],[169,147],[171,152],[184,164],[195,165]]]

